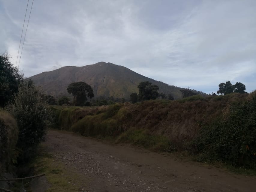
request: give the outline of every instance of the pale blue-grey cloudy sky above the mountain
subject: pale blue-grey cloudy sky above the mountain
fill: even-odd
[[[0,52],[14,65],[26,6],[0,0]],[[206,93],[226,81],[251,92],[256,1],[34,0],[19,65],[25,76],[100,61]]]

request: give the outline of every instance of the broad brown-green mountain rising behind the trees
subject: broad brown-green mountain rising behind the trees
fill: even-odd
[[[129,99],[131,93],[139,92],[137,86],[141,81],[149,81],[158,85],[159,92],[171,93],[175,99],[181,98],[179,87],[150,79],[140,75],[126,67],[113,63],[99,62],[83,67],[67,66],[59,69],[43,72],[32,76],[31,79],[42,86],[48,95],[60,97],[71,96],[67,87],[71,82],[83,81],[91,85],[95,98],[104,97]]]

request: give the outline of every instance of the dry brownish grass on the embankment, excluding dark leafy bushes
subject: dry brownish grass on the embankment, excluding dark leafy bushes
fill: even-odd
[[[164,136],[181,147],[218,116],[229,113],[230,105],[248,95],[230,94],[202,98],[193,96],[178,101],[144,101],[109,107],[69,107],[56,109],[58,127],[85,136],[118,136],[129,130],[144,129]]]

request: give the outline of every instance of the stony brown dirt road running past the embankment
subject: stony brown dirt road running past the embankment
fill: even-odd
[[[55,161],[75,170],[92,192],[256,191],[256,178],[235,175],[168,154],[112,146],[71,133],[50,131],[44,146]]]

